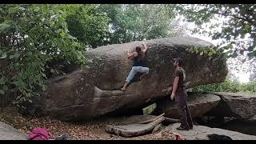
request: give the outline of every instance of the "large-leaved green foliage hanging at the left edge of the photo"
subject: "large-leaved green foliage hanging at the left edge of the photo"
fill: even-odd
[[[17,91],[17,106],[38,95],[38,90],[46,90],[49,73],[62,74],[62,66],[50,66],[51,62],[85,64],[85,50],[68,34],[66,12],[61,9],[59,5],[0,5],[0,61],[7,63],[0,94]]]

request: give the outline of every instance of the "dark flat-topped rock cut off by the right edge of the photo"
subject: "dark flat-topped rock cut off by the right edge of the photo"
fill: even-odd
[[[256,95],[212,92],[222,98],[219,105],[209,112],[220,117],[235,117],[245,121],[256,120]]]

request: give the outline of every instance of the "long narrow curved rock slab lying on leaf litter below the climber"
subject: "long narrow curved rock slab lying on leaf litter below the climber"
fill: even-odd
[[[142,134],[148,134],[162,121],[164,121],[163,117],[147,124],[134,123],[124,126],[106,126],[105,130],[107,133],[117,134],[123,137],[136,137]]]

